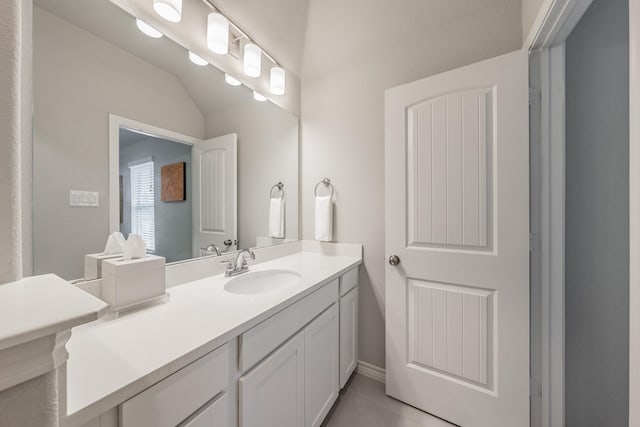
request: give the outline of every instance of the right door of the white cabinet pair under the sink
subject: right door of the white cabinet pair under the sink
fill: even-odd
[[[333,304],[304,330],[306,427],[320,426],[338,398],[339,334],[337,304]]]

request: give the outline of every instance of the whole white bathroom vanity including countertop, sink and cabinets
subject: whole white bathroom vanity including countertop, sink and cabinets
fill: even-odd
[[[357,366],[361,253],[258,249],[248,273],[179,284],[164,303],[74,329],[62,424],[321,425]],[[191,274],[207,261],[220,269],[200,260]]]

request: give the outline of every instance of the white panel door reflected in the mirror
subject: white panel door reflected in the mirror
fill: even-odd
[[[193,256],[210,244],[237,249],[237,135],[193,145]],[[230,245],[225,244],[231,242]]]

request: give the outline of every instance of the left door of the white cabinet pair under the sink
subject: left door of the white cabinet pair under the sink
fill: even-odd
[[[240,378],[240,427],[304,425],[304,331]]]

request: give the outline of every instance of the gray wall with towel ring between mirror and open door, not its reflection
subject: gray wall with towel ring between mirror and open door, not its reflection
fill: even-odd
[[[442,19],[429,14],[430,4],[380,0],[372,7],[367,0],[312,0],[309,7],[302,76],[302,237],[314,238],[313,187],[326,176],[336,188],[334,239],[364,245],[360,358],[380,367],[385,366],[384,91],[521,46],[520,2],[468,2],[466,13],[455,11],[446,24],[430,21]]]

